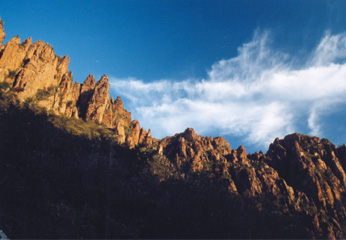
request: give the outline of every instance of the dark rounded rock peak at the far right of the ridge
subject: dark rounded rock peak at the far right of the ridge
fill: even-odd
[[[328,211],[341,201],[346,190],[345,171],[337,157],[337,147],[327,139],[288,135],[274,141],[267,155],[268,163],[316,206]]]

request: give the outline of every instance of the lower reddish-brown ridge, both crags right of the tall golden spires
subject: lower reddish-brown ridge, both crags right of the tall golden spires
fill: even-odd
[[[173,163],[183,178],[217,175],[231,193],[269,195],[283,212],[305,214],[320,236],[345,238],[345,145],[295,133],[275,139],[266,154],[248,154],[243,146],[231,149],[223,137],[202,137],[188,128],[159,141],[157,149],[156,156]]]

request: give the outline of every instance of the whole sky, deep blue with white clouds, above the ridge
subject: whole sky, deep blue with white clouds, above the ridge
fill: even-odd
[[[5,41],[107,74],[153,136],[193,127],[267,150],[292,132],[346,142],[345,1],[2,1]]]

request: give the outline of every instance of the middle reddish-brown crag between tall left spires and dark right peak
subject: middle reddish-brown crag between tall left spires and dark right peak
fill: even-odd
[[[192,128],[158,142],[157,154],[170,159],[179,171],[212,172],[229,180],[231,192],[261,196],[283,194],[294,204],[294,189],[270,167],[263,153],[247,154],[240,146],[232,150],[223,137],[202,137]]]

